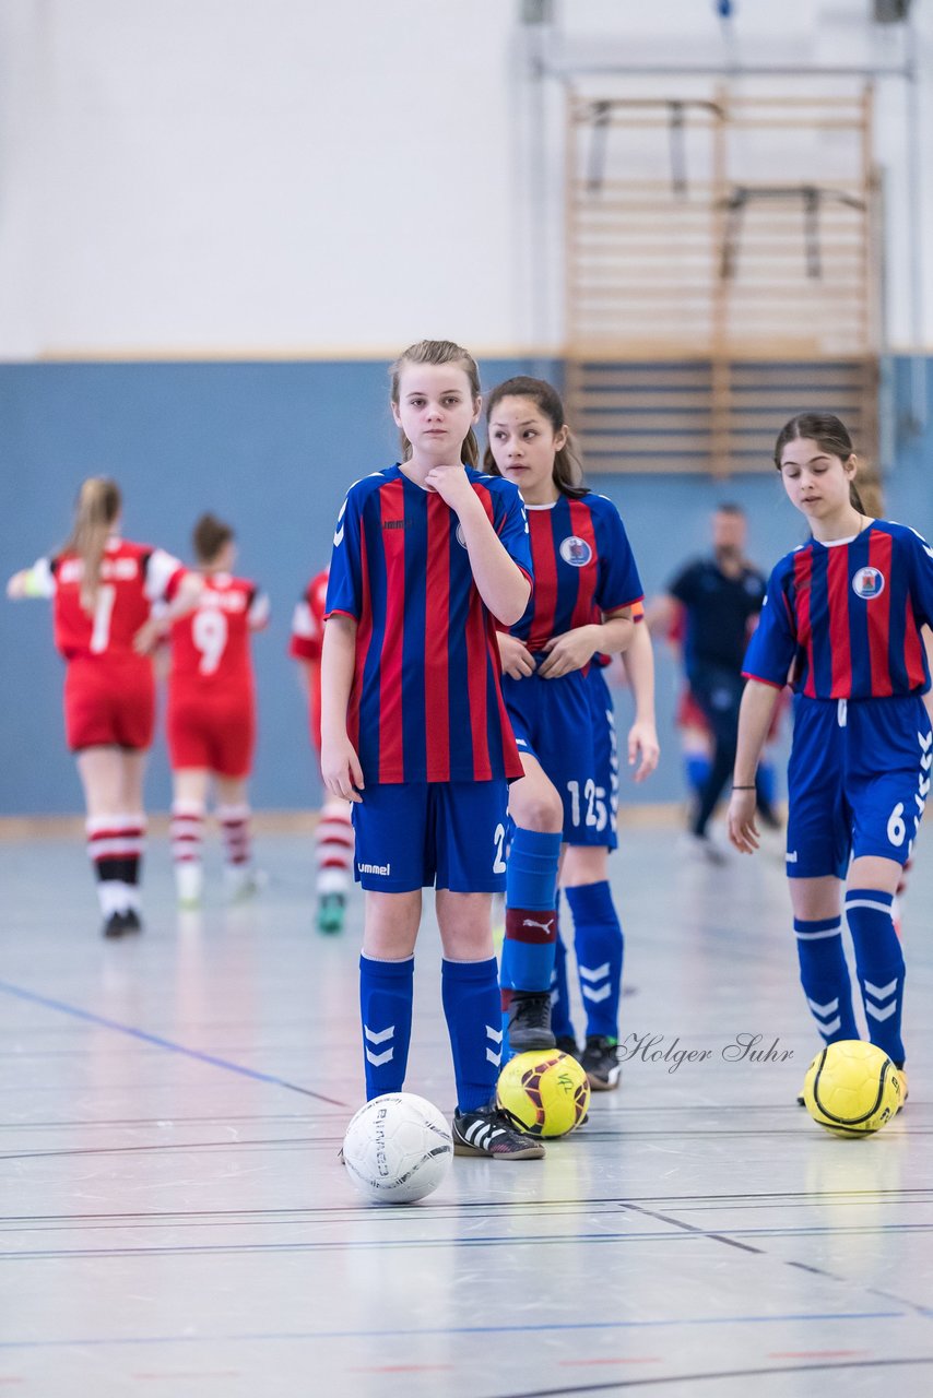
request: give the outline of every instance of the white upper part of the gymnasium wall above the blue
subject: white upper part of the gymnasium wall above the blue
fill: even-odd
[[[902,63],[870,0],[564,0],[554,55]],[[923,239],[933,232],[933,20]],[[520,0],[4,0],[0,358],[561,348],[561,87]],[[670,80],[664,80],[666,88]],[[888,337],[912,312],[904,84],[878,88]]]

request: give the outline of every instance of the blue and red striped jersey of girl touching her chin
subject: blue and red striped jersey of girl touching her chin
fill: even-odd
[[[509,556],[532,576],[515,485],[467,467]],[[495,622],[455,512],[389,467],[350,488],[337,520],[326,615],[357,621],[347,733],[366,781],[522,776],[505,713]]]

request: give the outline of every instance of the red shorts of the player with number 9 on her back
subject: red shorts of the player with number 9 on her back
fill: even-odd
[[[197,768],[221,777],[248,777],[256,747],[252,695],[173,698],[168,700],[168,754],[172,772]]]

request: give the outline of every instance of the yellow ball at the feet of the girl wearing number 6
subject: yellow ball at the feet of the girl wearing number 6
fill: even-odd
[[[813,1120],[834,1135],[870,1135],[901,1110],[904,1079],[877,1044],[841,1039],[807,1068],[803,1100]]]

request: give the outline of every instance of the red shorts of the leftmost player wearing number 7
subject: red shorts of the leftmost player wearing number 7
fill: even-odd
[[[83,748],[152,747],[155,681],[143,656],[119,664],[78,657],[64,672],[64,734],[71,752]]]

